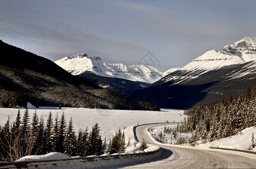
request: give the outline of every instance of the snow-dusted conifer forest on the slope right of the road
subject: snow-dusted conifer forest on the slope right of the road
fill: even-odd
[[[192,132],[188,140],[191,145],[198,140],[206,143],[236,135],[247,127],[256,126],[256,84],[253,90],[248,88],[245,97],[240,95],[221,103],[195,105],[186,110],[185,115],[187,118],[176,130]]]

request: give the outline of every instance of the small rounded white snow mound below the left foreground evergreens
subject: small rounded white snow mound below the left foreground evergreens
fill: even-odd
[[[62,153],[48,153],[45,155],[27,155],[25,157],[22,157],[18,159],[16,162],[22,162],[22,161],[48,161],[48,160],[58,160],[58,159],[71,159],[69,155],[62,154]]]

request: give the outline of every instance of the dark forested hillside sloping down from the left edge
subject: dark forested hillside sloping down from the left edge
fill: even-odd
[[[0,106],[71,106],[159,110],[156,105],[125,99],[111,90],[74,77],[52,61],[0,41]]]

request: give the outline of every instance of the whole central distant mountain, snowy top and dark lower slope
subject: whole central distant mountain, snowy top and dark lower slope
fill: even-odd
[[[165,75],[180,68],[160,72],[150,65],[106,64],[99,56],[77,54],[63,57],[55,62],[73,75],[82,77],[99,87],[111,89],[122,96],[129,96],[138,90],[158,81]]]

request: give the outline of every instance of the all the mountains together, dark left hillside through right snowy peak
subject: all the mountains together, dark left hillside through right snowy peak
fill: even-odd
[[[148,65],[105,64],[100,57],[86,54],[56,61],[66,72],[43,57],[2,41],[0,45],[8,54],[0,57],[0,106],[5,107],[31,102],[36,106],[157,110],[157,104],[188,109],[245,94],[245,88],[256,82],[256,38],[250,37],[164,73]],[[101,87],[152,104],[125,99]]]

